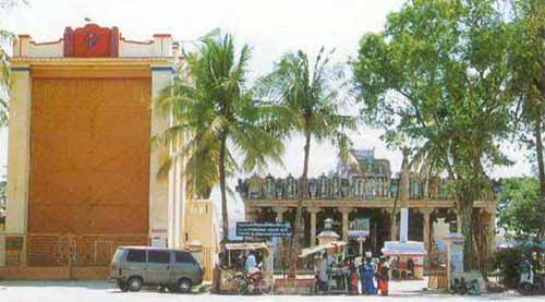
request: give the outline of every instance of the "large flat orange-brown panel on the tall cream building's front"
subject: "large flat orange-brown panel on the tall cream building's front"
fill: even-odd
[[[150,78],[33,78],[29,233],[147,234]]]

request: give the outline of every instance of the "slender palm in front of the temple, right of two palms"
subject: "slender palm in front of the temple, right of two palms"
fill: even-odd
[[[262,77],[257,89],[262,96],[284,108],[275,129],[286,140],[292,134],[302,134],[303,171],[299,181],[299,206],[295,214],[294,237],[291,247],[290,276],[295,275],[299,255],[299,240],[302,232],[302,201],[307,197],[307,177],[312,141],[331,142],[339,150],[339,157],[349,162],[351,141],[348,131],[355,130],[356,119],[346,113],[339,98],[342,86],[341,73],[330,67],[331,52],[322,48],[312,63],[303,51],[289,52],[275,64],[272,72]]]

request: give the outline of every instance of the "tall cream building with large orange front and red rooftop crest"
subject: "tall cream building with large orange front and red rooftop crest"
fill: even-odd
[[[191,205],[181,160],[157,176],[169,149],[150,141],[170,121],[152,100],[182,62],[169,34],[135,41],[86,24],[57,41],[19,36],[0,277],[104,277],[118,245],[183,247],[187,215],[214,217],[214,204]]]

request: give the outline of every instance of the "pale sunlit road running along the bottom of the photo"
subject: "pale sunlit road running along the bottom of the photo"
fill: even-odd
[[[1,302],[107,302],[107,301],[183,301],[183,302],[347,302],[347,301],[545,301],[545,297],[519,297],[514,293],[489,294],[479,298],[455,297],[421,291],[422,281],[391,282],[389,297],[310,297],[268,295],[238,297],[209,293],[173,294],[155,290],[121,292],[111,283],[101,281],[0,281]]]

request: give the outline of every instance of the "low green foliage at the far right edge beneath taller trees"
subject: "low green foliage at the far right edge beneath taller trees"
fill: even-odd
[[[512,178],[501,181],[498,204],[498,227],[517,240],[542,242],[540,181],[535,178]]]

